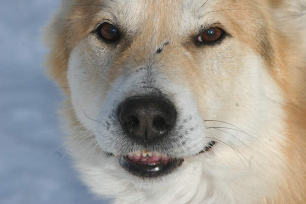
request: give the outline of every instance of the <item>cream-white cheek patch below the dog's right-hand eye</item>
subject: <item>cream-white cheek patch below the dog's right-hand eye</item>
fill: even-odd
[[[183,60],[184,56],[173,60],[178,63],[172,66],[172,69],[165,70],[164,74],[170,81],[180,82],[189,89],[203,120],[235,124],[259,141],[266,141],[273,146],[270,135],[282,134],[282,130],[267,130],[279,130],[279,124],[275,121],[284,118],[279,105],[283,103],[279,87],[259,54],[234,41],[222,46],[213,50],[215,52],[190,53],[189,58],[193,59],[190,63],[187,62],[187,57],[186,61]],[[205,122],[205,125],[229,127],[224,123]],[[226,132],[215,130],[209,136],[225,142],[230,141],[238,147],[243,144],[253,145],[254,139],[246,134],[234,130]],[[222,148],[228,148],[223,146]],[[237,159],[235,153],[228,155]]]

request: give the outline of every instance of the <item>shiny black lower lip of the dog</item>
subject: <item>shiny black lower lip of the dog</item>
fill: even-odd
[[[168,163],[139,164],[128,161],[125,157],[119,159],[119,163],[128,172],[140,177],[157,177],[171,173],[182,165],[184,159],[171,159]]]

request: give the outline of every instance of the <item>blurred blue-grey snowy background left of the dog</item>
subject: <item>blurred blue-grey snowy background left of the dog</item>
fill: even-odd
[[[63,96],[44,75],[40,31],[58,6],[0,1],[0,204],[104,203],[77,179],[62,148],[52,154],[61,146],[55,112]]]

